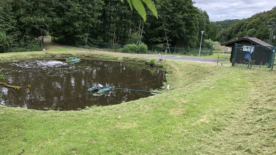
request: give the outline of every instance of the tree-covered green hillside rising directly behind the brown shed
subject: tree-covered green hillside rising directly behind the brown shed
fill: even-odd
[[[227,29],[221,29],[217,33],[217,40],[221,42],[227,42],[242,37],[257,37],[265,42],[269,41],[269,35],[271,23],[267,21],[276,22],[276,6],[269,11],[257,13],[250,18],[239,20],[231,25]],[[223,35],[223,38],[222,38]],[[274,35],[276,35],[276,29],[274,29]],[[272,45],[276,44],[276,39],[273,39]]]

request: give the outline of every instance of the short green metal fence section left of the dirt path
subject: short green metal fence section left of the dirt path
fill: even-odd
[[[42,51],[43,41],[34,44],[11,45],[9,52]]]

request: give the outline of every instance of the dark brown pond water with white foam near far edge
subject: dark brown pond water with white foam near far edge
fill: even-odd
[[[151,90],[160,88],[164,81],[164,71],[146,65],[91,59],[68,64],[64,60],[1,62],[0,69],[7,76],[3,82],[32,86],[30,89],[19,90],[1,86],[1,104],[37,110],[78,110],[92,105],[119,104],[153,95],[126,90],[112,90],[101,96],[87,93],[88,88],[97,82],[116,88]],[[57,100],[54,104],[55,97]]]

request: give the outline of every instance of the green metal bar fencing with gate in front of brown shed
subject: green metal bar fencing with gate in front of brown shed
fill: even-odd
[[[232,66],[273,69],[275,46],[235,44]]]

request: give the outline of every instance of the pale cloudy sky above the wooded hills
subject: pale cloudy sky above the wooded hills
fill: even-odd
[[[194,0],[195,7],[207,11],[210,21],[243,19],[271,10],[276,0]]]

